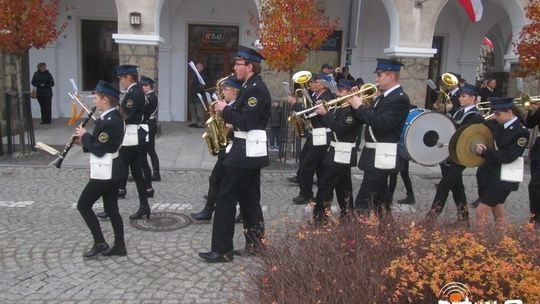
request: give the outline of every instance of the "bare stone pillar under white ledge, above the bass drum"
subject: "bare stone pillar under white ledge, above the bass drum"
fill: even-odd
[[[424,108],[426,104],[426,80],[429,71],[429,58],[399,58],[401,68],[400,84],[411,104]]]

